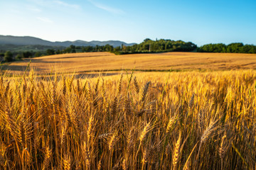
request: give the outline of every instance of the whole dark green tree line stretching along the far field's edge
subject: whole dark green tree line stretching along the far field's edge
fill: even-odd
[[[193,42],[184,42],[182,40],[151,40],[146,38],[142,43],[132,46],[96,45],[96,46],[75,46],[70,45],[63,49],[54,47],[48,50],[35,52],[33,50],[23,52],[0,51],[0,61],[11,62],[21,60],[22,58],[41,57],[46,55],[58,55],[75,52],[112,52],[115,55],[149,53],[149,52],[233,52],[233,53],[256,53],[255,45],[243,45],[243,43],[223,43],[207,44],[197,47]]]

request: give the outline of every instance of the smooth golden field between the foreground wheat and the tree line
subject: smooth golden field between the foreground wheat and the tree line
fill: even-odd
[[[10,74],[22,74],[29,60],[3,66]],[[232,53],[164,52],[155,54],[114,55],[110,52],[86,52],[36,57],[31,61],[38,74],[50,71],[93,72],[124,69],[154,70],[228,70],[254,69],[256,55]]]

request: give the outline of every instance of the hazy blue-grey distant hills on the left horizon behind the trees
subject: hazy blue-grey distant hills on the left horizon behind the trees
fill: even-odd
[[[113,47],[118,47],[123,45],[131,46],[135,43],[126,43],[119,40],[109,40],[109,41],[64,41],[64,42],[51,42],[48,40],[42,40],[40,38],[34,38],[29,36],[18,37],[11,35],[0,35],[0,45],[46,45],[46,46],[62,46],[69,47],[70,45],[75,46],[96,46],[96,45],[112,45]]]

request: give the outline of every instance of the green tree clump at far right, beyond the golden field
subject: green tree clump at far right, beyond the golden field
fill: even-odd
[[[231,52],[231,53],[256,53],[255,45],[243,45],[243,43],[223,43],[203,45],[198,48],[198,52]]]

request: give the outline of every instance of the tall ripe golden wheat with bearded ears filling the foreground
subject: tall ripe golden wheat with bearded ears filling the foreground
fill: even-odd
[[[0,169],[256,169],[256,72],[0,79]]]

